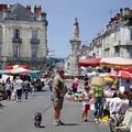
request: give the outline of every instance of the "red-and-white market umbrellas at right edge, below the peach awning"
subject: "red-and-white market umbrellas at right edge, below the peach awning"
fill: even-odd
[[[118,73],[116,70],[113,70],[109,77],[112,78],[123,78],[123,79],[132,79],[132,75],[129,72],[125,70],[119,70]]]

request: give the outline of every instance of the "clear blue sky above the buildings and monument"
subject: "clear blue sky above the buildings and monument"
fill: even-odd
[[[1,0],[1,3],[41,6],[47,13],[47,45],[51,56],[67,57],[70,53],[73,24],[78,19],[81,44],[92,38],[121,8],[132,9],[132,0]]]

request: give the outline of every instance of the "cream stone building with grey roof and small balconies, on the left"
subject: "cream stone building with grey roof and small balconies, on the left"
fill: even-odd
[[[41,6],[0,4],[0,66],[23,64],[43,69],[47,56],[47,20]]]

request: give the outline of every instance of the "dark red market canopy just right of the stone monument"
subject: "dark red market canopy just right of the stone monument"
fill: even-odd
[[[80,59],[80,61],[78,62],[78,66],[84,66],[84,67],[88,67],[88,66],[99,66],[99,65],[100,65],[100,61],[101,61],[101,58]]]

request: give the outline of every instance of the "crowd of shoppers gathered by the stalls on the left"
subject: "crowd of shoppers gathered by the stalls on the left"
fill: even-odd
[[[0,82],[0,99],[16,100],[18,102],[21,102],[22,97],[24,97],[24,99],[28,99],[29,92],[31,92],[31,95],[34,95],[35,91],[41,91],[43,87],[44,84],[40,78],[33,80],[29,75],[18,75],[14,76],[13,79],[8,77],[6,80],[2,80]]]

